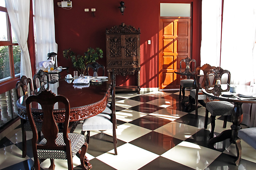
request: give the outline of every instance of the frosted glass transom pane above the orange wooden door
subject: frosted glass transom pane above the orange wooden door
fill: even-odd
[[[160,17],[190,17],[190,4],[160,3]]]

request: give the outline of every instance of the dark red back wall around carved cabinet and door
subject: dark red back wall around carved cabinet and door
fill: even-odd
[[[192,58],[199,59],[200,49],[200,2],[192,0],[194,6],[192,35]],[[63,57],[62,51],[71,48],[76,54],[83,55],[87,48],[100,47],[104,52],[104,57],[98,63],[106,65],[106,28],[112,26],[125,25],[140,27],[140,87],[158,87],[158,33],[159,33],[159,3],[161,2],[188,2],[177,1],[156,1],[156,0],[129,0],[124,1],[126,6],[124,15],[121,15],[118,6],[120,0],[74,0],[72,9],[65,10],[57,6],[60,0],[54,0],[55,18],[55,40],[58,44],[58,65],[68,66],[73,74],[74,68],[71,61]],[[89,12],[84,9],[89,8]],[[92,18],[91,8],[96,8],[95,18]],[[151,40],[151,44],[148,44]],[[199,62],[198,62],[199,63]],[[135,77],[118,76],[117,85],[135,85]]]

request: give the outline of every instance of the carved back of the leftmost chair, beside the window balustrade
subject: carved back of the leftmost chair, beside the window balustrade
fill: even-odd
[[[27,78],[26,76],[22,76],[20,80],[16,83],[16,95],[17,99],[21,97],[20,95],[20,88],[22,90],[22,93],[24,95],[28,94],[28,85],[29,85],[29,92],[32,91],[32,81],[30,78]]]

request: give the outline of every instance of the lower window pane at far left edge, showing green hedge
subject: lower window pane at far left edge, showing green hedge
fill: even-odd
[[[10,59],[8,46],[0,46],[0,81],[10,78]]]

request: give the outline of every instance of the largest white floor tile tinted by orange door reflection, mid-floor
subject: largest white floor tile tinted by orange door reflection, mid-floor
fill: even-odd
[[[186,125],[179,122],[170,122],[154,131],[181,140],[186,140],[199,130],[201,129],[194,126]]]

